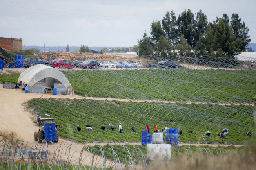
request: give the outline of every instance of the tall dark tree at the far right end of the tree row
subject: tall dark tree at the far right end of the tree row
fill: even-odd
[[[250,36],[248,36],[249,28],[245,23],[241,23],[241,18],[238,14],[232,14],[231,16],[231,27],[232,27],[232,36],[233,41],[237,42],[236,51],[242,52],[245,51],[248,43],[251,42]]]

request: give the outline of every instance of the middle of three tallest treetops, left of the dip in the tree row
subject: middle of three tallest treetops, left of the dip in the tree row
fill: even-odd
[[[187,43],[194,48],[194,14],[188,9],[182,12],[177,19],[177,25],[179,28],[179,35],[183,34]]]

